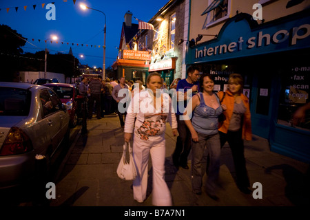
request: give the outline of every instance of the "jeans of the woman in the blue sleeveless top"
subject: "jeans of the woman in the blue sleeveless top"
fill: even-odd
[[[193,192],[201,192],[203,175],[207,169],[207,157],[209,156],[207,190],[214,190],[214,184],[218,180],[220,171],[220,135],[205,135],[198,133],[198,142],[192,141],[192,189]]]

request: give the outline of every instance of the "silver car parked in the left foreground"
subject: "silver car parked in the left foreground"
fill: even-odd
[[[36,155],[47,167],[69,140],[70,115],[56,93],[41,85],[0,82],[0,188],[32,179]]]

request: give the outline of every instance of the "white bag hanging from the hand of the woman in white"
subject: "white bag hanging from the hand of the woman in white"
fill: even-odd
[[[127,162],[126,160],[126,151],[129,151],[130,160]],[[118,177],[124,180],[134,180],[136,179],[136,165],[134,164],[134,157],[132,156],[132,147],[129,142],[125,142],[123,145],[123,155],[121,157],[121,161],[118,164],[116,173]]]

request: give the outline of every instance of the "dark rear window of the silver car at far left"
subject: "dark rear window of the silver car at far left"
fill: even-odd
[[[11,87],[0,87],[0,115],[28,115],[30,102],[31,91]]]

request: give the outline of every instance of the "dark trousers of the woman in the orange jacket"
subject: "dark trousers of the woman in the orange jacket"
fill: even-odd
[[[220,132],[220,146],[223,147],[228,142],[231,154],[234,159],[238,187],[249,187],[249,177],[245,165],[245,146],[242,140],[242,130]]]

